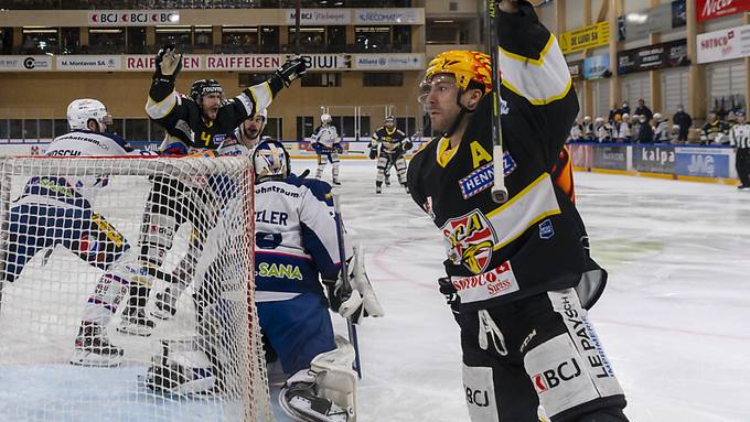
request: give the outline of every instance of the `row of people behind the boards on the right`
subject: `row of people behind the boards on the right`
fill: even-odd
[[[699,129],[699,137],[689,143],[701,145],[729,144],[729,129],[736,123],[738,115],[744,110],[735,107],[729,111],[712,110],[706,123]],[[570,129],[568,142],[613,142],[613,143],[688,143],[688,134],[693,127],[693,118],[683,106],[669,118],[661,112],[653,112],[643,99],[631,113],[628,101],[621,107],[613,106],[607,118],[591,116],[576,121]]]

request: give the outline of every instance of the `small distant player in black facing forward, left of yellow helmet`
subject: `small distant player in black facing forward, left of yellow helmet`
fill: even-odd
[[[381,151],[378,154],[378,145]],[[375,178],[375,193],[383,193],[383,182],[388,169],[396,167],[398,183],[406,187],[406,160],[404,153],[411,149],[411,140],[400,129],[396,128],[393,116],[385,118],[382,127],[377,128],[369,141],[369,159],[377,158],[377,176]]]

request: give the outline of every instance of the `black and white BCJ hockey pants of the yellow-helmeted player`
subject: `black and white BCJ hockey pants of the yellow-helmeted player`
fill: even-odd
[[[625,397],[574,289],[461,311],[472,422],[626,421]]]

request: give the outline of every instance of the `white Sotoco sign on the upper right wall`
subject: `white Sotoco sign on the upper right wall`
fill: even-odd
[[[707,32],[697,37],[698,63],[750,56],[750,25]]]

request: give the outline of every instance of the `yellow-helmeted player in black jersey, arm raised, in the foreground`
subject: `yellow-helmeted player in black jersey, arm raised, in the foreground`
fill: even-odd
[[[586,231],[560,185],[558,163],[578,113],[570,74],[532,4],[499,4],[510,199],[499,205],[491,196],[492,69],[482,53],[443,52],[430,62],[420,99],[442,136],[407,174],[414,201],[448,245],[439,284],[461,328],[469,414],[534,421],[542,404],[553,422],[626,421],[624,394],[587,318],[602,271],[589,271]]]

